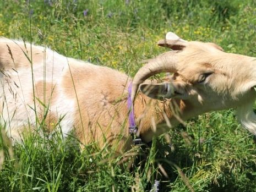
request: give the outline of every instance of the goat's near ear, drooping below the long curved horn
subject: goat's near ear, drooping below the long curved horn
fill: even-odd
[[[139,90],[144,95],[157,100],[173,97],[183,98],[187,95],[184,87],[176,87],[172,83],[140,84]]]

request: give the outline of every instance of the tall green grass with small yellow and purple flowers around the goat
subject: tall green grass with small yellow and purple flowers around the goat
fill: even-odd
[[[255,56],[255,7],[253,0],[0,1],[0,36],[32,40],[133,76],[141,60],[166,51],[156,42],[167,31]],[[256,191],[255,139],[232,110],[171,130],[171,146],[165,135],[155,139],[132,171],[126,169],[130,161],[121,163],[107,148],[80,152],[72,136],[31,135],[12,147],[3,130],[1,191],[149,191],[155,179],[161,191]]]

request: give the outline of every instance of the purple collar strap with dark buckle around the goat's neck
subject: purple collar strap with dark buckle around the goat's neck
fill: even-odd
[[[141,144],[141,139],[136,135],[138,131],[138,127],[135,122],[135,116],[134,116],[134,109],[133,109],[133,102],[132,102],[132,85],[133,83],[130,82],[128,86],[128,110],[129,110],[129,134],[133,138],[133,144],[134,145],[140,145]]]

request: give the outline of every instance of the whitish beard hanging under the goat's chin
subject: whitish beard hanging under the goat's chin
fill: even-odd
[[[256,135],[256,115],[253,112],[253,103],[246,103],[237,107],[237,118],[245,129]]]

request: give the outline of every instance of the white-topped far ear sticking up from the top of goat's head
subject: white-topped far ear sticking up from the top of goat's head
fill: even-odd
[[[178,35],[173,32],[167,32],[165,40],[160,40],[157,45],[162,47],[168,47],[172,50],[183,50],[187,46],[187,41],[181,39]]]

